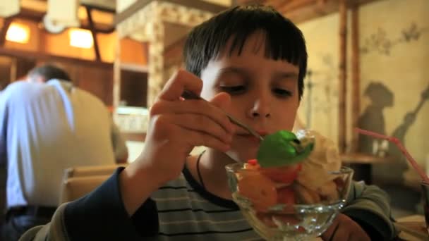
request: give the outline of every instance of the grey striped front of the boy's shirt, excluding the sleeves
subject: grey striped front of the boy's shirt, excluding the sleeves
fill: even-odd
[[[152,200],[159,233],[148,240],[262,240],[233,201],[207,192],[186,168]]]

